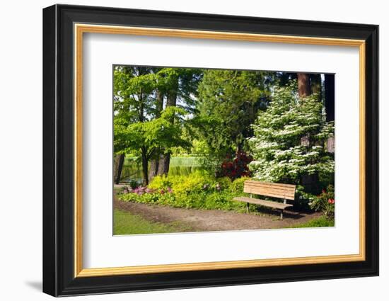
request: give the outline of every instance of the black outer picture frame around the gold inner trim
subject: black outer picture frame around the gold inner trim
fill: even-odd
[[[366,41],[366,260],[74,277],[74,23]],[[378,25],[54,5],[43,9],[43,292],[53,296],[378,276]]]

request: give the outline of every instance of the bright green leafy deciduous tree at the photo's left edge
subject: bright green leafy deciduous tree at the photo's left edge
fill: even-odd
[[[115,67],[114,151],[139,156],[145,185],[151,159],[165,159],[172,147],[190,146],[181,134],[198,73],[180,68]],[[168,166],[169,159],[163,166]]]

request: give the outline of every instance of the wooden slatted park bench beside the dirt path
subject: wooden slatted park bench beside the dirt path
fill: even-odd
[[[294,192],[296,191],[296,185],[281,184],[281,183],[267,183],[260,181],[245,181],[243,186],[244,193],[250,193],[250,198],[241,196],[239,198],[233,198],[238,202],[247,203],[247,211],[249,212],[249,204],[262,205],[269,208],[275,208],[281,210],[281,219],[284,213],[284,209],[292,207],[293,205],[287,204],[286,200],[294,200]],[[281,198],[283,203],[274,202],[271,200],[260,200],[258,198],[252,198],[252,195],[269,196],[272,198]]]

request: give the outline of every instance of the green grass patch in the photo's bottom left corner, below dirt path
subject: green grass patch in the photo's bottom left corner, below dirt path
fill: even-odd
[[[113,219],[113,234],[151,234],[151,233],[177,233],[190,232],[191,228],[178,222],[163,224],[161,222],[149,222],[139,215],[132,215],[115,209]]]

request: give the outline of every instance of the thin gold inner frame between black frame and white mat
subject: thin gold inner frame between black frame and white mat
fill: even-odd
[[[204,263],[175,263],[152,266],[124,266],[116,268],[83,268],[82,230],[82,70],[83,33],[120,35],[148,35],[175,38],[241,40],[251,42],[281,42],[286,44],[330,45],[359,47],[359,254],[309,256],[281,259],[216,261]],[[295,264],[341,263],[364,261],[365,250],[365,41],[335,38],[311,38],[290,35],[262,35],[202,30],[139,28],[111,25],[74,24],[74,277],[114,276],[141,273],[202,271],[227,268],[290,266]]]

